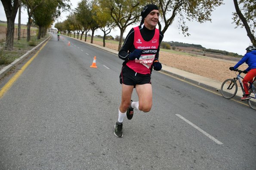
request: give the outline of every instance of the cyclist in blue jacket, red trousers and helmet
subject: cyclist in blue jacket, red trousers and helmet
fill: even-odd
[[[244,74],[247,74],[243,79],[243,86],[245,95],[241,98],[241,100],[250,99],[249,90],[248,90],[248,82],[252,82],[253,78],[256,76],[256,47],[251,45],[246,48],[246,54],[244,57],[234,66],[230,67],[230,70],[235,70],[241,64],[247,63],[248,68],[243,71]]]

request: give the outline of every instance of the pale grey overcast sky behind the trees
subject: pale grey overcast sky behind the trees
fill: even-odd
[[[80,0],[70,1],[72,3],[72,9],[74,9]],[[212,22],[199,24],[196,21],[187,21],[186,24],[188,26],[188,33],[191,34],[190,36],[184,37],[182,32],[178,29],[177,21],[174,21],[164,33],[163,41],[197,44],[205,48],[224,50],[244,55],[246,52],[245,48],[250,45],[250,39],[247,36],[245,28],[235,29],[235,24],[232,24],[232,12],[235,11],[233,1],[224,0],[224,3],[224,5],[217,7],[216,10],[212,12]],[[57,21],[64,21],[66,16],[68,16],[67,13],[62,13],[61,18],[58,18]],[[2,2],[0,2],[0,20],[7,21]],[[21,22],[22,24],[28,22],[28,15],[25,9],[22,9]],[[18,23],[18,14],[15,23]],[[128,27],[124,33],[124,37],[126,37],[130,29],[135,26],[136,25]],[[103,32],[97,30],[95,35],[103,36]],[[112,31],[109,35],[113,37],[120,35],[119,28],[116,28],[116,30]]]

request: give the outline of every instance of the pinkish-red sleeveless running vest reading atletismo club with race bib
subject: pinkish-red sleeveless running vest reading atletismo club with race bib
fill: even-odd
[[[139,31],[139,26],[134,27],[134,42],[133,45],[136,49],[143,50],[139,60],[129,60],[126,65],[133,69],[134,72],[140,74],[150,74],[151,65],[153,64],[154,57],[157,54],[159,45],[159,30],[156,28],[154,37],[150,41],[145,41]]]

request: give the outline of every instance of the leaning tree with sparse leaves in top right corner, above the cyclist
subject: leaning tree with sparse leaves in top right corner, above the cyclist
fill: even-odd
[[[255,0],[233,0],[236,12],[233,13],[233,23],[236,27],[244,27],[247,36],[254,46],[256,46],[256,2]],[[240,6],[243,6],[241,9]]]

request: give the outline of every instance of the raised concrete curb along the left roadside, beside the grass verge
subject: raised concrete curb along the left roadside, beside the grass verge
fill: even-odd
[[[18,59],[14,60],[11,64],[8,66],[5,66],[3,69],[0,70],[0,78],[3,78],[7,72],[9,72],[12,67],[17,66],[19,63],[21,63],[23,60],[25,60],[26,57],[28,57],[32,52],[36,51],[44,42],[46,42],[48,39],[50,39],[52,36],[50,35],[47,39],[40,42],[39,45],[29,50],[27,53],[22,55],[22,57],[19,57]]]

